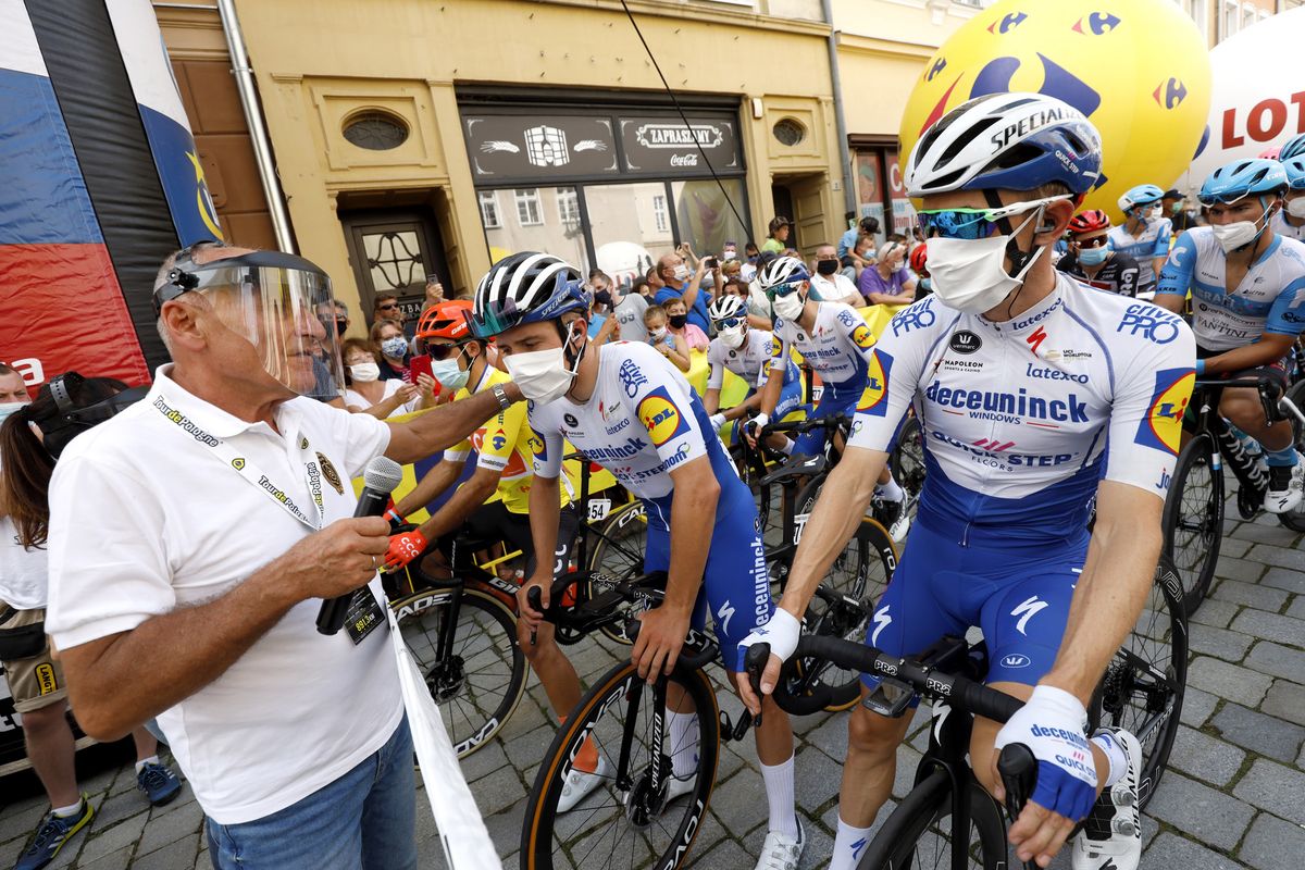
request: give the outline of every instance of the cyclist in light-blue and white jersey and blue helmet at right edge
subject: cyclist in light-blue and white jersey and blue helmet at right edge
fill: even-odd
[[[1208,227],[1193,227],[1173,244],[1155,303],[1181,312],[1191,292],[1197,374],[1266,376],[1288,385],[1288,355],[1305,330],[1305,243],[1274,232],[1287,172],[1278,160],[1233,160],[1210,173],[1197,198]],[[1224,390],[1219,412],[1259,441],[1268,464],[1265,510],[1283,514],[1301,503],[1305,464],[1291,423],[1270,424],[1251,389]]]

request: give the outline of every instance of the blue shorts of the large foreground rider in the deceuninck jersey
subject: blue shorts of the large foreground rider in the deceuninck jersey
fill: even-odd
[[[876,604],[865,644],[912,656],[944,634],[983,629],[987,682],[1036,685],[1052,669],[1088,536],[1054,548],[962,547],[953,535],[911,527],[906,552]],[[880,678],[861,674],[874,689]]]

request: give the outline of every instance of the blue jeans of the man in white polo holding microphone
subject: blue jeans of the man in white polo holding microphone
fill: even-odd
[[[407,719],[338,780],[253,822],[205,819],[214,870],[416,870]]]

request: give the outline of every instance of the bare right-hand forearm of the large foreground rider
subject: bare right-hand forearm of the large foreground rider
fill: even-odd
[[[1098,514],[1061,651],[1041,680],[1043,685],[1075,695],[1084,706],[1105,665],[1133,630],[1154,582],[1161,544],[1159,506],[1155,517],[1144,515],[1146,509],[1141,513],[1117,514],[1113,522]]]

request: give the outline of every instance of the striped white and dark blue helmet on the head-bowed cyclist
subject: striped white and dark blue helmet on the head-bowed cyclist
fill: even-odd
[[[492,338],[568,312],[587,316],[592,303],[574,266],[552,254],[523,250],[500,260],[480,279],[471,303],[471,331],[476,338]]]

